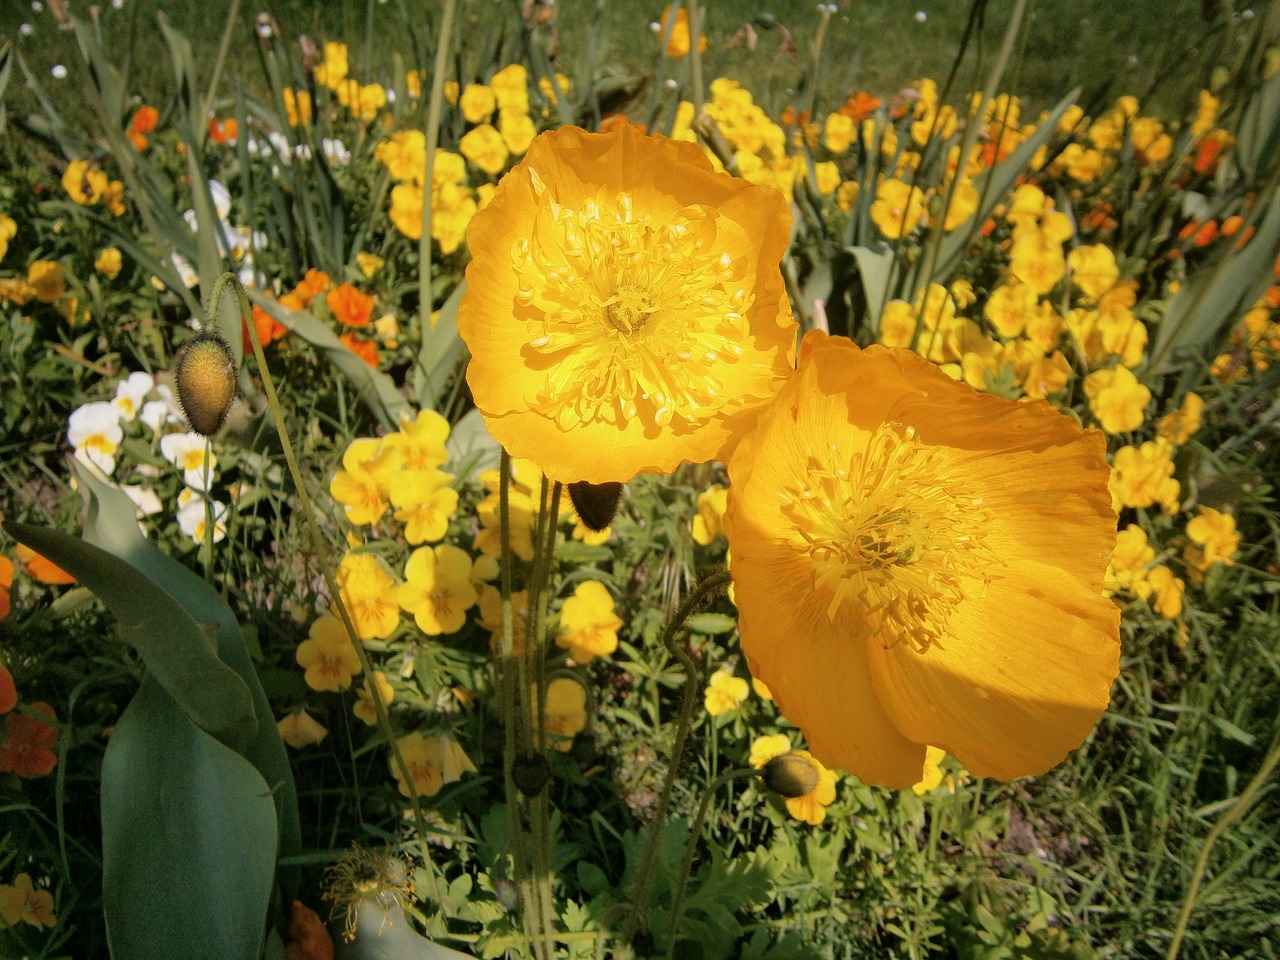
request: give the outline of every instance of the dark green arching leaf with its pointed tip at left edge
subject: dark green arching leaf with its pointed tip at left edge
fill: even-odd
[[[248,745],[257,728],[248,687],[218,658],[212,631],[182,603],[127,561],[70,534],[26,524],[5,524],[5,531],[97,594],[193,724],[234,750]]]

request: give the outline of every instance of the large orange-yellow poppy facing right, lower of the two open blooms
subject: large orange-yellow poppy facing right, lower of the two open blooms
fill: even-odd
[[[933,745],[1042,773],[1106,709],[1098,431],[812,332],[728,472],[742,649],[824,764],[910,787]]]

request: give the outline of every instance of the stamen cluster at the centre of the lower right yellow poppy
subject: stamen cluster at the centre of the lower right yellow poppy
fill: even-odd
[[[828,622],[923,653],[947,636],[956,605],[986,589],[984,571],[1000,564],[983,543],[989,511],[946,467],[897,424],[863,434],[852,452],[809,453],[782,512]]]

